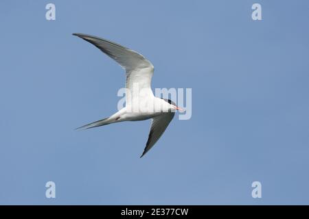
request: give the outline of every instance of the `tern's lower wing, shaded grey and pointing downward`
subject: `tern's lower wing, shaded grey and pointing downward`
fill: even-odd
[[[154,146],[155,143],[159,140],[165,129],[170,124],[170,121],[172,121],[174,114],[175,114],[174,112],[165,112],[160,116],[152,118],[148,141],[141,157],[143,157],[152,148],[152,146]]]

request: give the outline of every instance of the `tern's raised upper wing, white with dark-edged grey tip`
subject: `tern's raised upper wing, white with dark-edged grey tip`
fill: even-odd
[[[131,92],[133,90],[133,86],[135,86],[135,89],[137,89],[137,94],[139,94],[139,90],[143,89],[144,94],[146,93],[147,95],[153,95],[150,83],[154,67],[143,55],[115,42],[104,40],[96,36],[87,34],[73,35],[95,45],[95,47],[98,47],[102,52],[122,66],[122,68],[126,70],[126,88],[131,90]],[[126,99],[127,104],[130,104],[130,101],[131,99]]]

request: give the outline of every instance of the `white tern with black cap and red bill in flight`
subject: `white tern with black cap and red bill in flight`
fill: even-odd
[[[160,99],[152,93],[150,83],[154,67],[146,58],[122,45],[87,34],[73,34],[98,47],[126,70],[126,107],[112,116],[78,129],[90,129],[123,121],[152,118],[150,133],[143,157],[155,145],[174,117],[175,110],[182,110],[168,99]]]

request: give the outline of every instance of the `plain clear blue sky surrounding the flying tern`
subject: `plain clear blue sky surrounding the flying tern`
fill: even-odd
[[[308,21],[307,0],[0,1],[0,204],[308,205]],[[192,118],[141,159],[150,120],[75,131],[124,87],[75,32],[145,55],[153,89],[192,88]]]

